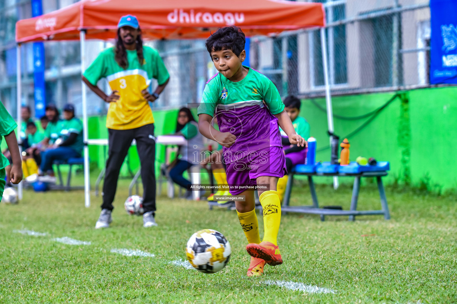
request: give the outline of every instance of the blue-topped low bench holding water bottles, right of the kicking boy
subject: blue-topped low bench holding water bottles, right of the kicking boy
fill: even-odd
[[[387,198],[384,191],[382,176],[387,175],[387,171],[390,170],[390,164],[387,161],[378,162],[377,165],[361,166],[356,162],[351,162],[349,165],[332,165],[329,162],[316,163],[314,165],[296,165],[292,172],[289,173],[289,180],[287,181],[286,193],[284,195],[284,201],[282,202],[282,211],[287,212],[298,212],[298,213],[310,213],[320,215],[321,221],[324,221],[326,215],[340,215],[349,216],[350,221],[355,220],[357,215],[384,215],[384,219],[390,219],[389,208],[387,205]],[[309,190],[313,199],[313,205],[311,206],[289,206],[290,195],[292,192],[293,176],[294,175],[307,175]],[[313,176],[352,176],[354,179],[354,187],[352,188],[352,198],[350,210],[338,210],[338,209],[325,209],[319,208],[319,202],[316,195],[316,189],[314,187]],[[357,201],[360,191],[360,180],[361,177],[376,177],[377,188],[381,199],[381,210],[368,210],[368,211],[357,211]]]

